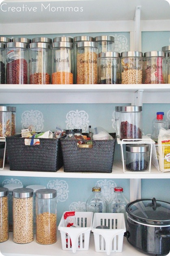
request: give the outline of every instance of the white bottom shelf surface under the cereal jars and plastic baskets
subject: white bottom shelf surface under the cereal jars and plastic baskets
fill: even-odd
[[[3,243],[0,243],[0,252],[5,256],[107,256],[106,253],[97,253],[95,252],[94,237],[93,234],[90,234],[90,245],[88,251],[79,251],[73,254],[72,251],[62,250],[60,232],[57,232],[57,242],[52,245],[39,245],[35,238],[34,241],[28,244],[17,244],[13,242],[13,236],[10,232],[9,240]],[[133,246],[129,245],[127,238],[124,238],[123,241],[123,250],[118,254],[110,254],[118,256],[142,256],[144,255],[141,252],[138,252]]]

